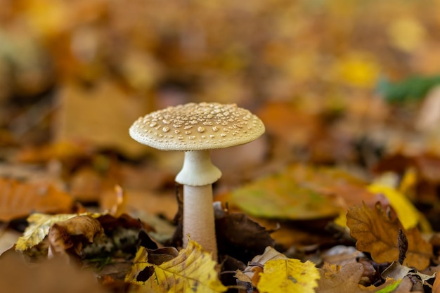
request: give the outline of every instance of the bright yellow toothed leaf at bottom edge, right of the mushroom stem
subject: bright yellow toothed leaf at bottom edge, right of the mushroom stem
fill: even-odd
[[[260,293],[298,292],[312,293],[320,278],[318,268],[311,262],[299,259],[274,259],[266,261],[260,274],[257,289]]]

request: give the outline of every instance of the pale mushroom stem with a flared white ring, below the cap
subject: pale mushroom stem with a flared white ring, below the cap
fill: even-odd
[[[221,171],[211,162],[209,150],[185,152],[183,167],[176,182],[183,184],[183,246],[188,235],[204,249],[217,257],[217,244],[212,207],[212,183],[221,177]]]

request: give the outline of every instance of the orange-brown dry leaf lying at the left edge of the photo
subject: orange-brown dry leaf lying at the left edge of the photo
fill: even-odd
[[[63,213],[72,208],[73,198],[52,184],[0,178],[0,190],[0,221],[11,221],[35,211]]]

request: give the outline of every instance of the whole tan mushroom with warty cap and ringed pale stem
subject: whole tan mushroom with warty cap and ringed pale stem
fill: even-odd
[[[188,235],[216,259],[212,183],[221,177],[209,150],[254,141],[264,124],[235,104],[187,103],[140,117],[130,127],[131,138],[159,150],[185,152],[176,182],[183,185],[183,246]]]

